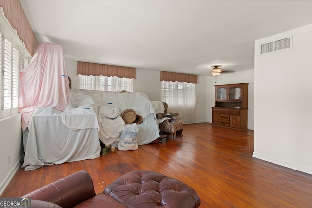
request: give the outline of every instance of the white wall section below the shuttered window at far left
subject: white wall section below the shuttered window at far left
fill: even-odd
[[[21,114],[0,120],[0,195],[20,168],[23,151]],[[20,197],[20,196],[15,196]]]

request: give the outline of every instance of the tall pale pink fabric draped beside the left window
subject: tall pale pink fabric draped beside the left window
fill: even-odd
[[[52,107],[63,111],[69,104],[69,80],[63,47],[42,43],[29,65],[20,72],[19,111],[25,131],[33,111]]]

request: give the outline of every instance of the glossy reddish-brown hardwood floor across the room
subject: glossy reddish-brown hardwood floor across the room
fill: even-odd
[[[20,169],[1,197],[20,197],[78,170],[90,173],[99,193],[129,171],[152,170],[195,189],[201,208],[312,207],[312,175],[253,158],[253,151],[253,131],[187,124],[183,137],[168,135],[166,143],[32,171]]]

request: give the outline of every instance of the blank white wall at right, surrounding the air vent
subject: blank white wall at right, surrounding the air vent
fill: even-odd
[[[259,45],[292,36],[292,49]],[[255,41],[253,156],[312,174],[312,24]]]

